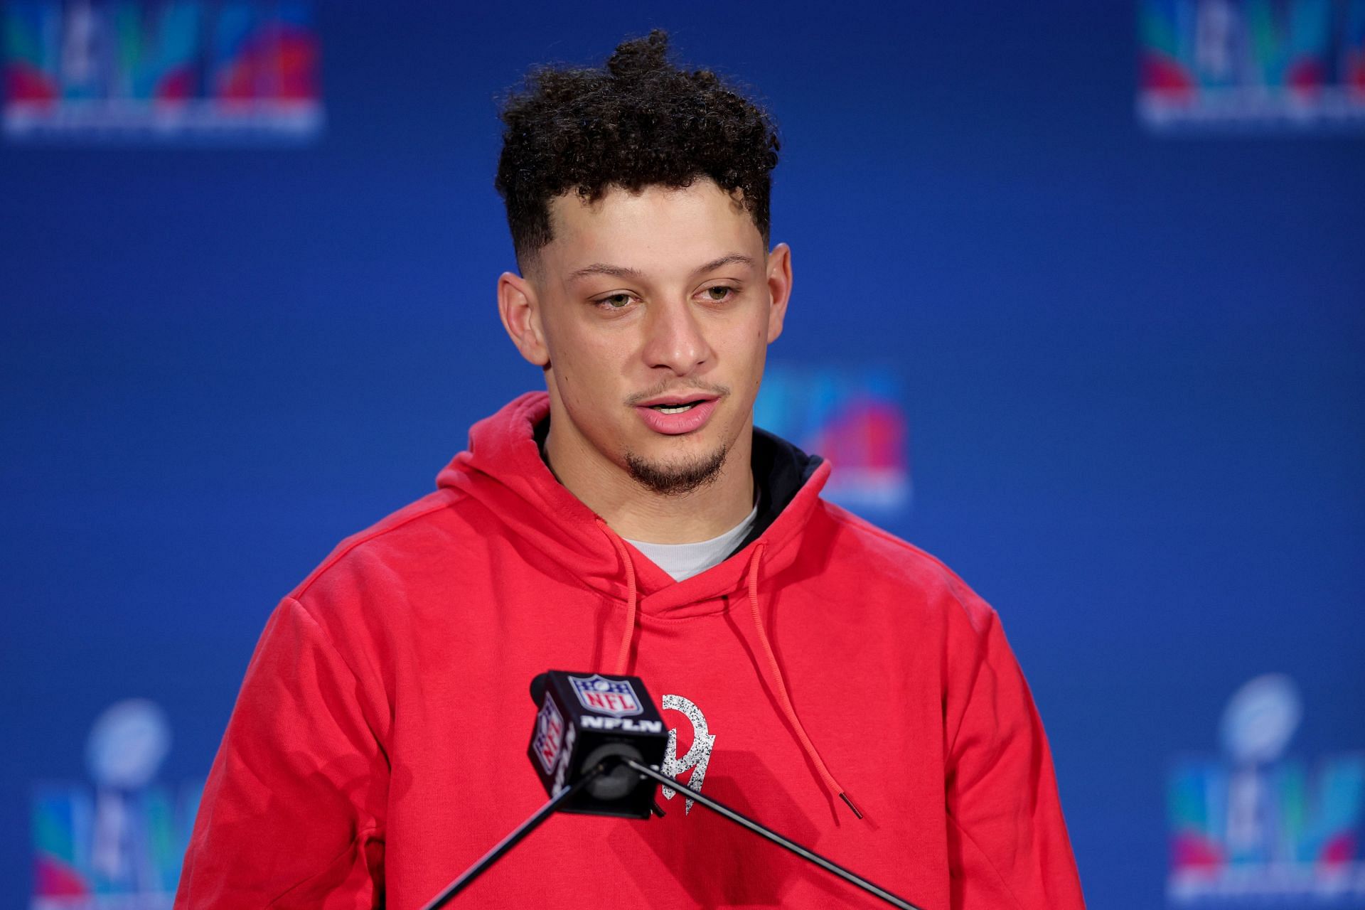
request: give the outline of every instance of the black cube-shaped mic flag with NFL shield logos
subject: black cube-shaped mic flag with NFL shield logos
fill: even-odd
[[[603,759],[659,765],[663,718],[639,677],[550,670],[531,681],[539,705],[527,754],[545,791],[558,797]],[[654,783],[621,761],[569,797],[561,812],[648,819]]]

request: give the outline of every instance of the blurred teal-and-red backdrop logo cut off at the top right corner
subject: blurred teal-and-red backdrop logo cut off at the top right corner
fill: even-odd
[[[1153,130],[1365,130],[1365,0],[1143,0],[1138,45]]]

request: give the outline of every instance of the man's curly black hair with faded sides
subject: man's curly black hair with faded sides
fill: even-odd
[[[550,243],[550,201],[576,191],[687,187],[710,177],[768,240],[777,127],[766,111],[710,70],[669,63],[669,37],[625,41],[601,70],[543,67],[502,106],[494,187],[508,210],[517,262]]]

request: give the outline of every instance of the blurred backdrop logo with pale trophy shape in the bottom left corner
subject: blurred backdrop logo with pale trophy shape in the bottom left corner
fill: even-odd
[[[34,787],[30,910],[171,906],[203,783],[158,783],[169,749],[165,712],[128,699],[105,709],[90,730],[93,786]]]

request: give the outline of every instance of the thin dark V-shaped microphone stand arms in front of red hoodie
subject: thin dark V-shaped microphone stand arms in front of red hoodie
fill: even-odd
[[[597,767],[591,768],[587,774],[584,774],[581,778],[579,778],[576,782],[573,782],[572,786],[565,787],[560,793],[560,795],[554,797],[553,799],[550,799],[549,802],[546,802],[543,806],[541,806],[539,809],[536,809],[536,812],[535,812],[534,816],[531,816],[530,819],[527,819],[526,821],[523,821],[520,824],[520,827],[517,827],[512,834],[509,834],[508,836],[502,838],[502,840],[498,842],[498,845],[495,847],[493,847],[491,850],[489,850],[483,855],[482,860],[479,860],[478,862],[475,862],[472,866],[470,866],[464,872],[464,875],[461,875],[459,879],[456,879],[449,885],[446,885],[445,891],[442,891],[435,898],[433,898],[431,902],[427,903],[422,910],[437,910],[437,907],[445,906],[445,903],[450,898],[453,898],[455,895],[457,895],[460,891],[463,891],[464,888],[467,888],[471,881],[474,881],[476,877],[479,877],[480,875],[483,875],[483,872],[487,870],[487,868],[491,866],[494,862],[497,862],[502,857],[502,854],[505,854],[508,850],[511,850],[517,843],[520,843],[520,840],[526,835],[531,834],[535,828],[538,828],[541,825],[542,821],[545,821],[551,814],[554,814],[554,810],[558,809],[564,802],[566,802],[575,793],[577,793],[579,790],[581,790],[591,780],[595,780],[598,775],[601,775],[605,771],[607,771],[607,764],[609,763],[614,767],[616,763],[618,763],[618,761],[625,763],[633,771],[640,772],[642,775],[644,775],[646,778],[650,778],[651,780],[662,783],[666,787],[676,789],[680,793],[685,793],[687,797],[688,797],[688,799],[693,799],[696,802],[700,802],[703,806],[706,806],[711,812],[715,812],[717,814],[721,814],[721,816],[729,819],[730,821],[733,821],[734,824],[740,825],[741,828],[747,828],[747,830],[752,831],[753,834],[771,840],[773,843],[778,845],[779,847],[790,850],[792,853],[794,853],[796,855],[801,857],[803,860],[814,862],[815,865],[820,866],[826,872],[830,872],[830,873],[838,876],[839,879],[844,879],[849,884],[856,885],[856,887],[861,888],[863,891],[867,891],[868,894],[871,894],[871,895],[874,895],[876,898],[880,898],[882,900],[885,900],[886,903],[891,905],[893,907],[900,907],[900,910],[921,910],[920,907],[915,906],[909,900],[905,900],[904,898],[895,896],[894,894],[891,894],[886,888],[882,888],[880,885],[872,884],[867,879],[864,879],[864,877],[861,877],[861,876],[850,872],[849,869],[845,869],[844,866],[841,866],[841,865],[838,865],[835,862],[830,862],[829,860],[826,860],[820,854],[815,853],[814,850],[808,850],[808,849],[803,847],[801,845],[796,843],[794,840],[789,840],[789,839],[784,838],[782,835],[779,835],[778,832],[771,831],[770,828],[763,827],[762,824],[759,824],[753,819],[749,819],[747,816],[740,814],[738,812],[736,812],[734,809],[729,808],[728,805],[719,802],[718,799],[713,799],[711,797],[702,795],[699,791],[692,790],[691,787],[688,787],[681,780],[677,780],[676,778],[670,778],[669,775],[661,772],[658,768],[652,768],[652,767],[650,767],[647,764],[635,761],[633,759],[625,759],[625,757],[621,757],[621,756],[607,756],[605,760],[599,761],[597,764]]]

